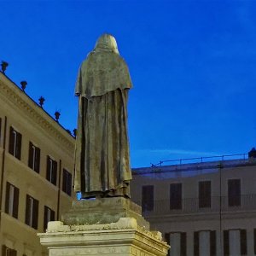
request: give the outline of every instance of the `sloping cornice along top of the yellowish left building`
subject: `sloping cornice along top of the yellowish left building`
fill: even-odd
[[[9,100],[10,104],[14,104],[26,113],[33,123],[40,125],[44,131],[54,137],[64,148],[69,152],[73,152],[74,138],[3,73],[0,73],[0,91],[4,98]]]

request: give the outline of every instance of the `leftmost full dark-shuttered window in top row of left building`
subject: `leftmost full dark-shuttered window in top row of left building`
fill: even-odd
[[[9,154],[15,156],[15,158],[20,160],[21,155],[21,139],[22,136],[18,131],[10,126],[9,127]]]

